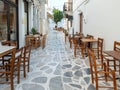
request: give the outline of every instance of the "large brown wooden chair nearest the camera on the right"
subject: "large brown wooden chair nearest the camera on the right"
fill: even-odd
[[[88,49],[88,55],[89,55],[92,83],[96,81],[96,90],[98,90],[98,88],[113,88],[114,90],[117,90],[115,70],[111,70],[108,66],[106,66],[105,63],[98,64],[93,50]],[[102,86],[99,83],[99,80],[102,80],[103,82],[112,82],[113,85]]]

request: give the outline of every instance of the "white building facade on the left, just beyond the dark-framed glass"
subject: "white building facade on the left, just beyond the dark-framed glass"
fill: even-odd
[[[47,0],[18,0],[19,47],[25,45],[25,35],[34,27],[44,35],[48,32]]]

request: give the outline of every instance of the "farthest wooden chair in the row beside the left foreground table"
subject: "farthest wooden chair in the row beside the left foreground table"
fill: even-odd
[[[25,78],[26,78],[26,70],[27,72],[30,71],[30,54],[31,54],[31,45],[24,46],[20,66],[23,67],[23,73]]]

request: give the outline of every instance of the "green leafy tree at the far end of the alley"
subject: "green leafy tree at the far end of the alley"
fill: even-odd
[[[59,9],[54,8],[53,9],[53,21],[56,23],[60,22],[63,19],[63,12]]]

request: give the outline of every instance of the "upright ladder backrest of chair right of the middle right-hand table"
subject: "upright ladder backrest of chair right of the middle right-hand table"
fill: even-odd
[[[102,52],[103,52],[103,38],[98,38],[98,42],[97,42],[98,59],[102,58]]]

